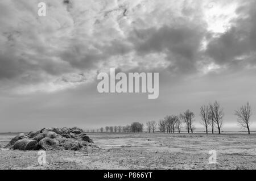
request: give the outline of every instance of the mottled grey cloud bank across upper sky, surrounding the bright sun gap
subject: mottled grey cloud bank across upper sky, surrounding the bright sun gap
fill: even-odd
[[[64,74],[79,76],[83,71],[100,71],[101,65],[103,68],[115,65],[123,71],[158,71],[162,67],[158,68],[157,64],[164,61],[169,63],[166,69],[170,72],[189,75],[201,71],[201,62],[203,65],[215,62],[220,67],[241,67],[241,64],[246,66],[255,62],[253,1],[245,5],[241,3],[236,10],[238,17],[230,20],[232,27],[218,35],[207,30],[201,2],[170,4],[166,1],[156,3],[158,6],[147,2],[146,9],[141,2],[131,2],[130,5],[117,1],[88,3],[47,1],[48,16],[39,18],[37,2],[1,2],[1,7],[5,8],[0,12],[0,79],[18,82],[16,78],[34,77],[40,83],[46,81],[43,79],[45,75],[54,82]],[[119,12],[123,7],[127,7],[125,16],[123,11]],[[136,14],[138,12],[142,13]],[[206,50],[201,49],[205,39]],[[158,60],[156,56],[155,62],[149,62],[147,56],[151,54],[164,54],[165,57],[159,56]],[[130,66],[126,56],[130,56],[130,61],[137,63],[137,67],[136,64]],[[118,60],[117,57],[122,58]],[[125,62],[128,63],[124,67]],[[30,80],[28,78],[27,82],[35,83]]]

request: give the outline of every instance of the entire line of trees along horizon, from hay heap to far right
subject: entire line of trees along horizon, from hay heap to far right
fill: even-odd
[[[237,123],[242,127],[246,128],[248,134],[250,134],[250,124],[251,124],[251,106],[246,103],[244,106],[238,108],[234,111],[234,115],[237,116]],[[200,107],[200,123],[204,126],[205,132],[208,134],[209,130],[214,133],[214,128],[217,129],[218,134],[221,134],[221,129],[224,121],[224,109],[221,108],[220,104],[215,101],[208,105],[203,105]],[[164,119],[161,119],[156,123],[156,121],[148,121],[146,123],[146,129],[148,133],[154,133],[156,129],[161,133],[180,133],[181,128],[187,130],[188,133],[193,133],[196,127],[195,123],[195,113],[190,110],[180,113],[179,115],[167,115]],[[112,126],[97,129],[97,132],[142,132],[142,123],[132,123],[126,126]],[[94,132],[94,130],[92,130]]]

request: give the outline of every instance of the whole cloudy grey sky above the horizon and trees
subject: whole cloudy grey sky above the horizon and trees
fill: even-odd
[[[38,3],[46,2],[46,16]],[[202,104],[256,115],[256,2],[1,0],[0,132],[158,121]],[[110,68],[159,72],[159,98],[100,94]],[[256,122],[256,116],[252,117]],[[256,130],[256,124],[252,125]]]

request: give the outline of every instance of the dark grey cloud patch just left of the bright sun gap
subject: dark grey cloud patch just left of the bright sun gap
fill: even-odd
[[[200,44],[206,33],[205,24],[184,22],[179,27],[135,30],[130,37],[138,54],[163,52],[170,61],[170,70],[193,71],[200,55]]]

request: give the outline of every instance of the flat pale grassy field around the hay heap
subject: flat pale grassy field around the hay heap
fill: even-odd
[[[0,150],[0,169],[256,169],[256,134],[88,133],[101,149],[47,151]],[[0,134],[0,148],[14,134]],[[217,164],[210,165],[209,151]]]

